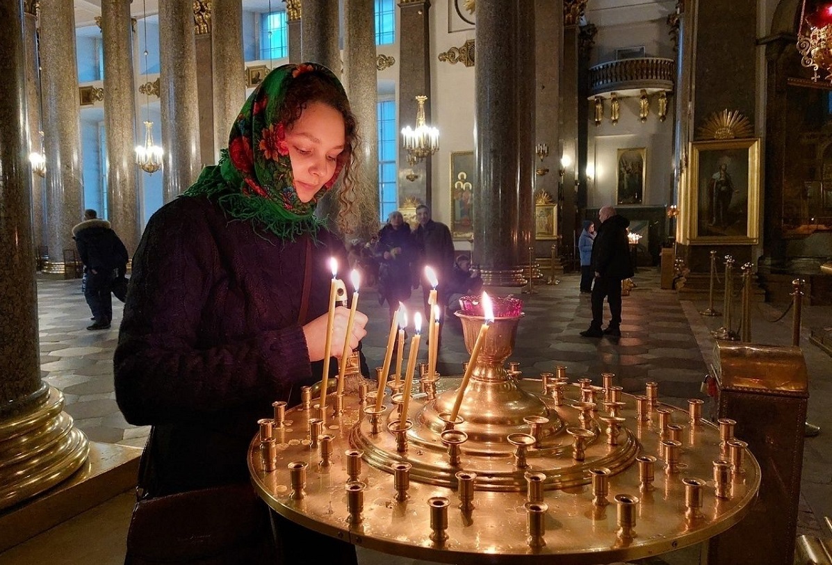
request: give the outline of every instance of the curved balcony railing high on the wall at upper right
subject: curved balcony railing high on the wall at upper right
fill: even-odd
[[[589,69],[592,96],[606,92],[656,89],[673,90],[676,62],[661,57],[641,57],[604,62]]]

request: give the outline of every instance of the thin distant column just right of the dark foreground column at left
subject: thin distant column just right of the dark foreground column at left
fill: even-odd
[[[43,151],[41,134],[41,70],[37,60],[37,2],[23,2],[23,33],[26,39],[26,100],[28,104],[29,152]],[[43,215],[43,177],[32,173],[32,230],[33,245],[46,245]]]

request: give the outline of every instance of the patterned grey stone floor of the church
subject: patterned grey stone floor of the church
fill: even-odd
[[[659,383],[660,399],[678,406],[690,398],[706,398],[700,384],[711,362],[714,341],[710,330],[721,325],[721,318],[699,314],[707,306],[701,300],[680,300],[672,290],[659,288],[658,272],[642,268],[635,278],[636,288],[624,298],[622,338],[586,339],[578,335],[589,325],[588,295],[578,293],[577,275],[562,276],[559,285],[536,286],[537,294],[522,295],[525,317],[518,330],[513,360],[520,362],[524,374],[552,371],[557,364],[567,366],[571,378],[590,376],[599,381],[602,371],[617,374],[626,392],[641,391],[646,381]],[[497,289],[499,295],[511,290]],[[517,290],[514,290],[517,292]],[[408,302],[413,311],[421,304],[421,292]],[[40,315],[40,348],[42,378],[61,389],[66,397],[66,411],[78,428],[98,442],[144,444],[147,428],[127,424],[118,411],[112,383],[112,350],[115,347],[121,320],[121,303],[114,303],[111,330],[87,331],[89,310],[83,300],[79,280],[38,279],[38,310]],[[752,311],[752,336],[755,343],[790,344],[791,315],[775,320],[787,305],[755,304]],[[369,366],[381,364],[384,341],[389,330],[386,305],[379,306],[373,289],[361,293],[359,310],[369,315],[369,335],[364,340],[364,353]],[[832,359],[822,349],[810,344],[810,330],[830,325],[832,306],[804,306],[803,334],[800,345],[810,371],[809,419],[823,428],[820,437],[807,439],[801,486],[799,533],[829,536],[820,530],[819,519],[832,516]],[[460,374],[461,363],[468,359],[457,320],[449,319],[443,329],[438,370],[442,374]],[[119,502],[121,501],[121,502]],[[130,497],[114,499],[102,508],[94,508],[17,548],[0,554],[0,565],[39,563],[36,557],[43,548],[62,544],[67,532],[88,537],[89,543],[74,544],[81,552],[72,557],[63,548],[62,561],[51,563],[121,563],[123,536],[131,509]],[[84,517],[92,513],[85,528]],[[105,516],[106,518],[102,518]],[[95,525],[96,520],[116,528],[107,528],[106,536]],[[92,544],[92,545],[91,545]],[[92,551],[96,545],[110,548],[103,553]],[[87,553],[84,553],[84,552]],[[106,555],[106,558],[102,558]],[[688,548],[652,558],[651,565],[689,565],[699,563],[699,550]],[[409,565],[410,559],[390,558],[374,552],[361,554],[363,565],[395,563]]]

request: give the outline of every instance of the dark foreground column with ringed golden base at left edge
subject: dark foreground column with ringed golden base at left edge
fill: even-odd
[[[61,392],[41,380],[23,27],[22,2],[0,2],[0,510],[75,473],[89,449]]]

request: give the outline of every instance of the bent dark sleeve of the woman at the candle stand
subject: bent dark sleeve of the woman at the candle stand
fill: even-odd
[[[136,250],[114,358],[116,401],[131,424],[271,401],[311,376],[300,325],[206,335],[203,319],[230,260],[199,212],[190,203],[162,208]]]

